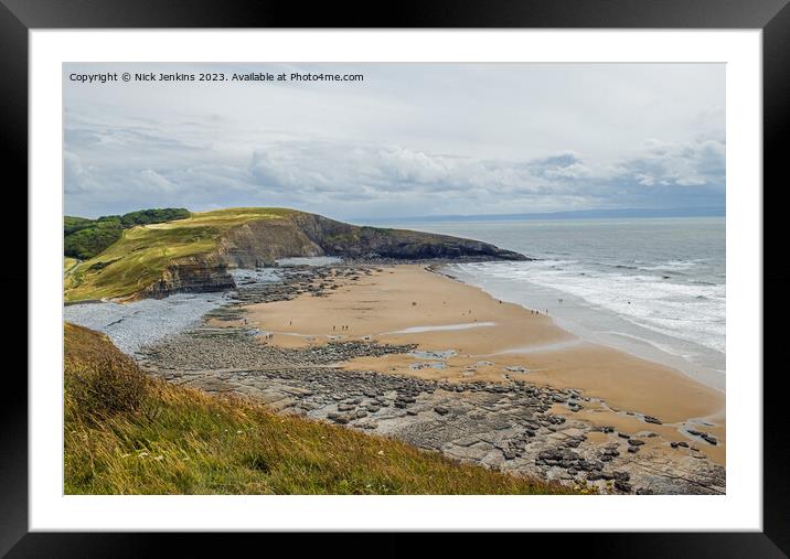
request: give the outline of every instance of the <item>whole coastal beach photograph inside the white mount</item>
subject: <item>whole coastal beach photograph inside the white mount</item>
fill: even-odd
[[[63,493],[727,495],[726,73],[63,62]]]

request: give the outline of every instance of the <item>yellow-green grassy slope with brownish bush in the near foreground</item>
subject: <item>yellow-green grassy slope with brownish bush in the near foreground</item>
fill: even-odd
[[[66,494],[554,494],[397,441],[154,380],[65,324]]]

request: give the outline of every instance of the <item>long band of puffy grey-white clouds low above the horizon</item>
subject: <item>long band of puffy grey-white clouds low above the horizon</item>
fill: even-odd
[[[124,141],[122,149],[134,151],[148,138]],[[121,148],[113,144],[116,149]],[[188,198],[199,207],[226,200],[227,205],[241,201],[332,208],[333,214],[343,207],[349,212],[388,207],[396,215],[414,212],[420,201],[425,211],[493,213],[655,204],[662,196],[666,205],[694,189],[706,189],[708,197],[724,192],[724,141],[719,140],[650,140],[612,164],[597,164],[577,152],[481,160],[343,140],[281,141],[250,149],[246,161],[238,155],[216,163],[222,158],[196,150],[157,169],[145,159],[110,157],[102,158],[102,165],[86,166],[79,155],[66,151],[67,193],[70,198],[97,192],[111,198],[115,193],[135,201],[136,207],[151,205],[150,200],[183,205],[179,201]]]

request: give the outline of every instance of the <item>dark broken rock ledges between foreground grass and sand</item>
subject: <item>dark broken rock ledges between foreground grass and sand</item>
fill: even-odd
[[[340,364],[350,359],[406,355],[415,346],[349,340],[291,348],[260,343],[255,334],[247,329],[198,329],[147,346],[137,358],[151,374],[174,384],[254,398],[274,410],[504,472],[600,493],[726,492],[724,466],[693,445],[672,445],[649,431],[647,421],[644,430],[626,439],[613,427],[575,418],[572,402],[586,398],[578,390],[521,379],[448,383],[344,370]],[[564,406],[569,417],[556,411]]]

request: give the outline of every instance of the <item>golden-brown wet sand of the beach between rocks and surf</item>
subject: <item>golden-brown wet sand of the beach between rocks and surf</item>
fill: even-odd
[[[696,447],[725,463],[725,395],[679,370],[585,342],[545,314],[500,302],[424,266],[383,267],[356,280],[338,277],[335,283],[327,297],[302,294],[247,305],[247,320],[274,334],[268,343],[282,346],[372,338],[418,344],[417,352],[452,352],[356,358],[344,364],[348,369],[450,381],[512,378],[575,388],[590,401],[583,401],[576,412],[564,406],[553,411],[692,445],[694,440],[681,428],[696,428],[718,440],[717,445]],[[645,423],[642,416],[659,418],[662,424]]]

